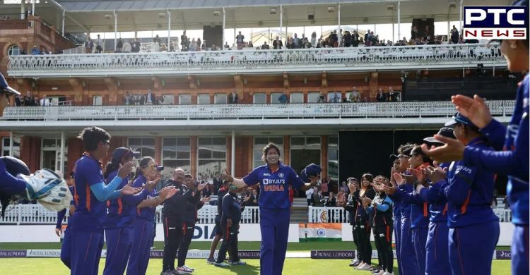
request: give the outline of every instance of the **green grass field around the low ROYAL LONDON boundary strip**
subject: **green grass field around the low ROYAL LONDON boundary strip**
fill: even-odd
[[[0,243],[1,250],[25,250],[25,249],[59,249],[60,243]],[[163,249],[163,243],[156,242],[156,249]],[[209,242],[192,242],[190,249],[209,250]],[[259,250],[259,242],[240,242],[240,250]],[[289,243],[289,251],[310,251],[310,250],[351,250],[352,242],[310,242],[310,243]],[[510,247],[497,247],[497,249],[509,250]],[[259,259],[244,259],[246,266],[230,268],[214,267],[206,264],[205,259],[188,259],[186,264],[193,267],[196,274],[259,274]],[[374,262],[377,262],[375,260]],[[312,275],[312,274],[370,274],[367,271],[357,271],[348,267],[348,259],[285,259],[283,274]],[[396,271],[394,261],[394,274]],[[11,258],[0,259],[1,274],[69,274],[61,260],[58,258]],[[105,258],[100,262],[100,274],[105,267]],[[160,274],[162,269],[162,259],[151,259],[146,274]],[[495,275],[509,275],[509,260],[493,260],[493,271]]]

